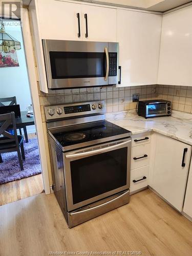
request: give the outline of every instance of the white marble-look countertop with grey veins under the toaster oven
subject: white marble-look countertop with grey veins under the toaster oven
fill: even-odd
[[[138,134],[154,131],[192,145],[192,114],[173,111],[172,116],[143,118],[135,110],[107,113],[106,120]]]

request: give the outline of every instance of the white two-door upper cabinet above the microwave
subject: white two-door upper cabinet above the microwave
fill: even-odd
[[[38,0],[38,13],[43,39],[84,41],[117,39],[117,10],[113,8]]]

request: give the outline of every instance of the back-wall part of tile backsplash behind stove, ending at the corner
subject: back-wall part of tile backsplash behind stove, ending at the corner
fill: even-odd
[[[136,86],[136,87],[95,87],[81,89],[49,90],[49,94],[39,91],[41,114],[45,121],[44,106],[54,104],[67,104],[74,102],[105,100],[108,113],[131,110],[136,108],[132,102],[133,94],[138,93],[140,100],[153,99],[157,97],[158,86]]]

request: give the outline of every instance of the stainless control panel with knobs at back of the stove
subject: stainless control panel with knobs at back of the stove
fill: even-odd
[[[100,115],[106,113],[106,106],[103,100],[93,102],[80,102],[71,104],[60,104],[45,106],[47,121],[69,119],[85,115]]]

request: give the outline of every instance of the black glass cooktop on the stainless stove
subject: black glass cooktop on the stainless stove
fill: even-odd
[[[131,136],[130,131],[105,120],[62,127],[59,132],[52,132],[52,134],[62,147],[119,135]],[[113,139],[116,138],[111,138]]]

